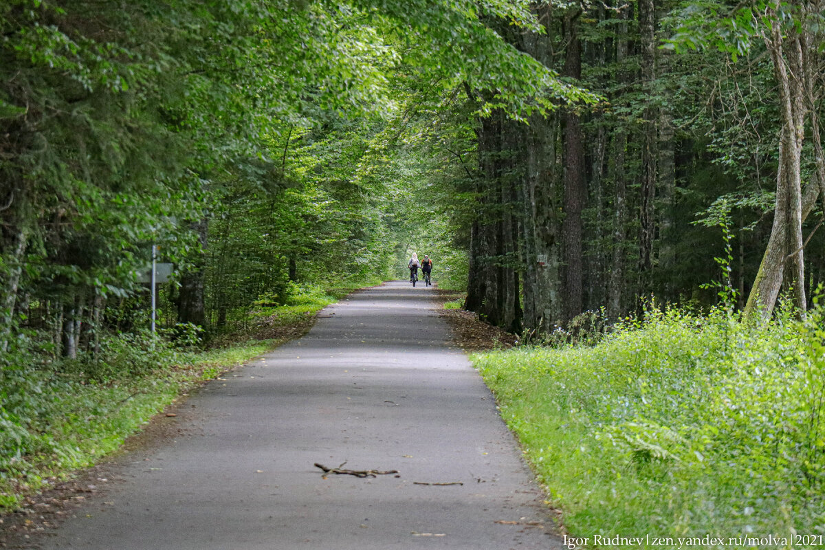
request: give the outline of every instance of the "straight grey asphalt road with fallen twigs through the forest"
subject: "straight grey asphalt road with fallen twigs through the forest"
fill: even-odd
[[[325,309],[303,338],[194,393],[169,419],[177,438],[127,454],[106,491],[28,544],[562,548],[492,395],[433,306],[427,287],[393,282]],[[316,463],[377,472],[325,475]]]

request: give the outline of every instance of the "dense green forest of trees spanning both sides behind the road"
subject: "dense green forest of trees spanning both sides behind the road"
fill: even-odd
[[[402,277],[412,251],[517,332],[651,303],[766,314],[783,288],[804,308],[825,270],[821,18],[4,2],[0,347],[76,357],[144,330],[155,245],[161,324],[213,336],[312,284]]]

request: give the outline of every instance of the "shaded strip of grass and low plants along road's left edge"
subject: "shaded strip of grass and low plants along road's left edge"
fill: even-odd
[[[274,349],[354,285],[304,289],[249,313],[265,340],[229,339],[212,350],[146,333],[111,336],[95,360],[53,361],[19,352],[0,363],[0,511],[112,454],[181,393]],[[191,335],[189,335],[191,336]],[[192,344],[192,338],[183,338]]]

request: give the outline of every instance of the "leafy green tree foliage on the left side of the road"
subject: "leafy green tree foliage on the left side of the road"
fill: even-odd
[[[12,340],[17,294],[87,313],[94,299],[139,291],[150,242],[182,271],[202,269],[192,220],[212,218],[206,248],[219,257],[209,258],[208,296],[218,325],[290,278],[389,275],[399,245],[384,191],[400,183],[380,179],[385,162],[370,149],[384,147],[375,137],[402,106],[389,78],[402,59],[449,74],[452,86],[516,71],[497,99],[514,113],[540,105],[554,84],[477,9],[4,4],[0,269],[9,283],[0,286],[0,344]],[[535,26],[518,2],[483,10]],[[413,48],[399,33],[411,21]],[[476,54],[456,59],[456,38]]]

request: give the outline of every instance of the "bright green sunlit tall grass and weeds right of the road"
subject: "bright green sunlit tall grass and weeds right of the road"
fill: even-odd
[[[813,548],[825,543],[823,326],[822,310],[764,327],[657,312],[594,347],[473,360],[583,546]]]

